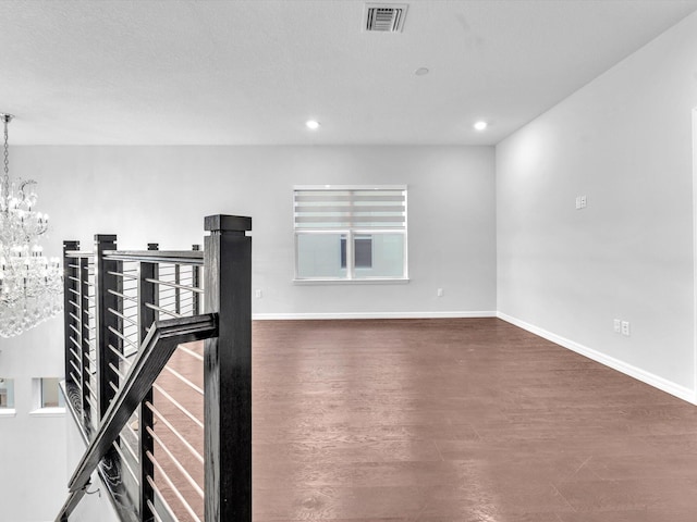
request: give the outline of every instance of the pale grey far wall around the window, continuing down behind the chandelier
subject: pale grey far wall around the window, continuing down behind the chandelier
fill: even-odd
[[[250,215],[254,300],[261,316],[467,315],[496,311],[492,147],[14,147],[11,174],[39,182],[45,241],[90,249],[94,234],[121,248],[203,244],[204,216]],[[293,185],[408,185],[408,284],[293,285]],[[437,297],[437,288],[444,296]],[[64,501],[63,420],[33,419],[30,380],[62,375],[62,323],[0,339],[0,375],[14,377],[17,415],[0,419],[2,520],[52,520]],[[71,421],[72,422],[72,421]],[[19,450],[17,450],[19,448]],[[40,474],[36,470],[42,470]],[[5,517],[8,517],[5,519]]]

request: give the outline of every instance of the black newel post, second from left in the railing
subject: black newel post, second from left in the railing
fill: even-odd
[[[119,298],[109,290],[120,291],[121,285],[118,276],[109,272],[118,272],[119,263],[105,259],[105,251],[117,249],[117,236],[107,234],[95,235],[95,336],[97,347],[97,400],[99,411],[96,412],[101,420],[109,408],[109,402],[115,396],[114,389],[109,385],[112,382],[119,387],[119,376],[109,366],[119,368],[119,357],[109,348],[112,346],[123,351],[121,339],[109,330],[119,331],[117,315],[109,309],[119,310]]]

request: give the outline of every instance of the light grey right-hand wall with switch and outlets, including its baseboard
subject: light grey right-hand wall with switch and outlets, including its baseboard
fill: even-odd
[[[692,15],[497,147],[503,316],[693,400],[696,49]]]

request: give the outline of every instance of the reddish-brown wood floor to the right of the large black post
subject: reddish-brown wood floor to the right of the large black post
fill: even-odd
[[[257,322],[254,520],[695,522],[697,408],[496,319]]]

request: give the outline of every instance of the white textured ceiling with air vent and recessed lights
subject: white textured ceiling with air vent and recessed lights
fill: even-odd
[[[11,145],[490,145],[697,10],[406,3],[382,34],[357,0],[2,0],[0,111]]]

